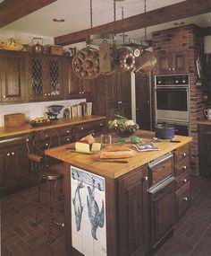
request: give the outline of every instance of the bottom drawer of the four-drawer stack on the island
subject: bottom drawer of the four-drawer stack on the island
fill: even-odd
[[[188,181],[176,194],[176,213],[177,216],[182,216],[184,212],[190,207],[190,181]]]

